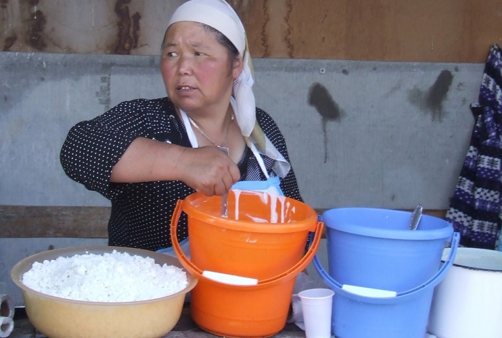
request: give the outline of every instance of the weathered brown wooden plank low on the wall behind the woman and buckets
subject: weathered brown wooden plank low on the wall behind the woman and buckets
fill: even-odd
[[[110,210],[104,206],[0,206],[0,237],[107,238]],[[316,209],[318,214],[324,211]],[[423,213],[444,218],[446,210]]]

